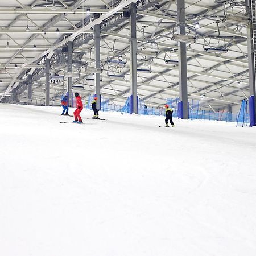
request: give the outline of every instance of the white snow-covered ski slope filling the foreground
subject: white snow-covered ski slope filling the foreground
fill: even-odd
[[[1,256],[255,256],[256,129],[0,104]]]

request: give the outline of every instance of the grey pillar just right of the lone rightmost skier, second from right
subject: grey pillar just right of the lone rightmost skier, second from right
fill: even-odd
[[[180,24],[180,34],[186,34],[185,0],[177,1],[177,23]],[[179,51],[179,96],[183,105],[183,119],[188,119],[188,80],[187,80],[187,46],[178,42]]]

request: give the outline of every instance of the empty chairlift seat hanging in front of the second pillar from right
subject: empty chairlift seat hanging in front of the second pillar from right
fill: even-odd
[[[180,26],[185,26],[186,28],[186,34],[179,34],[179,27]],[[176,24],[173,28],[173,34],[171,40],[174,40],[176,42],[182,42],[182,43],[195,43],[197,40],[197,32],[196,28],[187,24]]]

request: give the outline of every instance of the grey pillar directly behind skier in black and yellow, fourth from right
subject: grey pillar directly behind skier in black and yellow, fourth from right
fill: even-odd
[[[95,44],[95,68],[101,67],[101,27],[100,25],[94,26],[94,44]],[[95,77],[95,94],[98,97],[96,108],[101,109],[101,74],[94,73]]]

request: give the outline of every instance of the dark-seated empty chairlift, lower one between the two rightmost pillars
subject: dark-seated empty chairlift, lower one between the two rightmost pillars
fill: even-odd
[[[226,48],[225,38],[220,36],[220,27],[218,26],[218,35],[208,35],[204,38],[204,51],[209,53],[227,53],[228,49]]]

